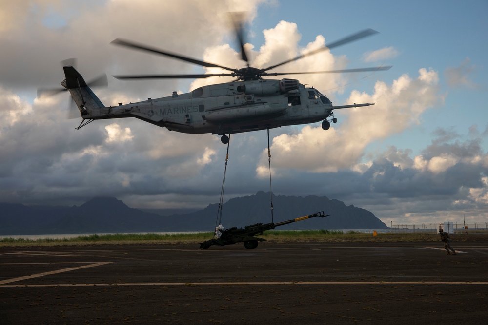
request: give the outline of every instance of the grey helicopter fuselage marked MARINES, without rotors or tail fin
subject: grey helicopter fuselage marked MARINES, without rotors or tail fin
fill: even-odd
[[[75,90],[76,91],[76,90]],[[235,134],[326,120],[334,107],[295,79],[248,80],[203,86],[119,106],[92,108],[83,119],[136,117],[189,134]]]

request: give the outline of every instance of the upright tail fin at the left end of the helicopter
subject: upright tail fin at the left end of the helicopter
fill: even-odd
[[[63,67],[63,70],[66,79],[61,85],[71,93],[81,116],[87,115],[90,109],[105,107],[75,68],[68,65]]]

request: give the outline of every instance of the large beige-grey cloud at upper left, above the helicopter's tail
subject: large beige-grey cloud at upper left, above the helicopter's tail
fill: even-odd
[[[200,57],[206,47],[221,43],[225,31],[231,33],[226,22],[228,12],[245,10],[253,17],[262,1],[227,0],[216,7],[211,0],[140,1],[137,5],[130,0],[90,0],[76,4],[76,8],[72,2],[60,0],[24,1],[22,4],[11,0],[4,2],[2,8],[7,9],[0,9],[6,18],[1,19],[0,25],[3,49],[0,84],[4,88],[8,85],[10,89],[25,91],[43,85],[59,85],[59,79],[62,80],[59,62],[69,57],[80,58],[79,70],[87,77],[97,76],[100,71],[109,74],[191,73],[192,64],[109,43],[122,37]],[[66,19],[62,28],[51,28],[44,23],[53,10]],[[191,26],[188,25],[190,21]],[[182,26],[184,28],[180,28]],[[131,86],[114,82],[125,87],[128,94],[139,94],[142,98],[155,89],[154,82],[149,89],[143,82]],[[177,84],[179,81],[171,80],[165,82],[165,87],[171,94]]]

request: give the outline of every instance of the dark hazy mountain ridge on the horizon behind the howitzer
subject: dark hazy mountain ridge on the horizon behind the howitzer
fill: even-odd
[[[254,195],[229,199],[222,206],[222,220],[217,220],[219,205],[202,210],[162,216],[131,208],[115,197],[94,197],[71,207],[25,206],[0,203],[0,235],[128,233],[212,231],[216,222],[226,228],[244,227],[262,222],[281,222],[324,211],[326,218],[313,218],[280,227],[280,230],[303,229],[387,229],[373,213],[346,206],[326,196],[272,196],[258,191]]]

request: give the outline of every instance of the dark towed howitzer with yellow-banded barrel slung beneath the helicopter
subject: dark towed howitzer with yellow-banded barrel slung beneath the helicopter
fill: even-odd
[[[245,226],[244,229],[242,228],[237,229],[237,227],[232,227],[222,231],[222,235],[219,238],[215,236],[214,238],[200,244],[200,249],[207,249],[212,245],[225,246],[225,245],[230,245],[230,244],[235,244],[240,242],[244,242],[244,247],[246,249],[255,249],[256,247],[258,247],[258,242],[263,242],[265,241],[265,239],[254,237],[254,236],[261,235],[263,234],[264,231],[275,229],[276,227],[279,226],[291,224],[292,222],[295,221],[301,221],[301,220],[314,218],[314,217],[324,218],[324,217],[328,217],[329,215],[330,214],[325,215],[324,211],[322,211],[310,215],[305,215],[300,218],[278,222],[276,224],[273,222],[267,224],[263,224],[260,222],[257,224]]]

